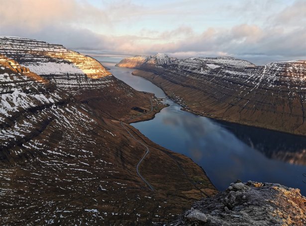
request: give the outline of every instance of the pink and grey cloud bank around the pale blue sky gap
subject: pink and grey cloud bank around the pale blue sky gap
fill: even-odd
[[[150,11],[130,1],[120,2],[99,8],[77,0],[0,0],[3,6],[0,7],[0,35],[34,38],[95,53],[230,55],[248,57],[251,61],[260,58],[260,63],[306,58],[305,4],[301,0],[271,15],[264,25],[242,23],[195,32],[192,26],[154,30],[148,24],[133,35],[116,36],[104,29],[105,26],[124,20],[132,24],[146,12],[167,11]],[[93,26],[104,27],[101,30]]]

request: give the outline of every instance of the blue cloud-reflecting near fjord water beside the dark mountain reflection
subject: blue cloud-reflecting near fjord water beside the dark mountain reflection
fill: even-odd
[[[204,168],[218,189],[224,189],[234,180],[241,179],[282,183],[306,192],[302,175],[306,172],[306,166],[272,159],[269,154],[269,151],[273,151],[271,145],[266,147],[265,142],[261,143],[251,135],[254,133],[257,136],[254,130],[258,128],[247,127],[243,130],[243,136],[247,139],[238,139],[239,130],[233,133],[228,125],[181,111],[179,105],[171,100],[167,102],[171,106],[163,109],[155,119],[133,126],[161,146],[190,156]],[[260,132],[265,132],[263,136],[268,136],[270,141],[273,141],[273,134],[279,135],[268,130]],[[287,145],[291,146],[291,143]],[[256,147],[261,147],[261,150],[258,151]],[[281,147],[286,150],[286,144],[283,143]],[[267,148],[269,150],[265,152]],[[291,148],[287,147],[288,150]]]

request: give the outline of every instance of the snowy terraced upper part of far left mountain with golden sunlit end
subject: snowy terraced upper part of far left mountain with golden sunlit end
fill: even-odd
[[[62,45],[0,36],[0,54],[65,89],[103,87],[111,79],[111,74],[97,60]]]

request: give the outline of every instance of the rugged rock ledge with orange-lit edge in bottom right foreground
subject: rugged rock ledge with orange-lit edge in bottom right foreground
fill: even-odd
[[[194,203],[168,225],[305,226],[306,198],[299,189],[280,184],[237,181],[214,197]]]

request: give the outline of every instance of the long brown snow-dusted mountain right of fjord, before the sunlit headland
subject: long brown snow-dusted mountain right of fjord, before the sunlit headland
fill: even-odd
[[[306,61],[255,66],[227,57],[188,58],[139,69],[146,72],[133,74],[197,114],[306,135]]]

